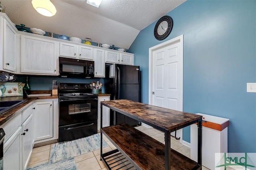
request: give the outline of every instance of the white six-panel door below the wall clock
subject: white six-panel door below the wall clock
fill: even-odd
[[[182,37],[183,38],[183,37]],[[150,48],[151,103],[168,109],[183,111],[183,47],[182,40],[169,40]],[[172,132],[174,136],[174,132]],[[182,143],[182,129],[176,137]]]

